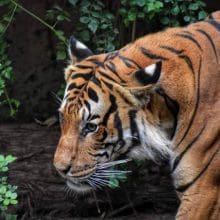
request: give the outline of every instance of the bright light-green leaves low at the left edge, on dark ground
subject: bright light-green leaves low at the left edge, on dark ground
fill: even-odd
[[[0,173],[7,172],[8,165],[15,159],[12,155],[3,156],[0,154]],[[6,176],[0,177],[0,212],[3,212],[5,216],[8,216],[8,214],[5,214],[7,207],[16,205],[18,202],[16,189],[16,186],[12,186],[7,182]]]

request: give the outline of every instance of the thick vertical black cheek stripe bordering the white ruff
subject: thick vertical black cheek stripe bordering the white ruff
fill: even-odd
[[[136,114],[137,114],[136,110],[130,110],[128,112],[128,116],[130,119],[130,129],[131,129],[131,134],[132,134],[132,147],[135,147],[140,144],[139,130],[137,127],[137,123],[135,121]]]

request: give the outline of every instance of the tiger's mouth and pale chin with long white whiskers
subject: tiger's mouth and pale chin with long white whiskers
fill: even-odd
[[[91,190],[102,189],[111,184],[112,178],[119,178],[131,171],[115,169],[116,165],[125,164],[131,159],[116,160],[106,163],[96,164],[94,168],[90,168],[82,173],[77,173],[66,177],[67,186],[75,192],[85,193]]]

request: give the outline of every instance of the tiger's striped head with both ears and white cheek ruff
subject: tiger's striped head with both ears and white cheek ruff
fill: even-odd
[[[67,185],[77,192],[107,185],[113,172],[109,168],[126,162],[118,160],[121,155],[153,160],[169,156],[168,138],[157,126],[160,119],[150,101],[162,63],[141,68],[120,51],[93,55],[74,37],[69,52],[54,156]]]

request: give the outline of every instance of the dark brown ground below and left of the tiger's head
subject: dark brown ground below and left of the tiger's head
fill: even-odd
[[[17,157],[8,176],[18,186],[18,205],[9,209],[18,219],[174,219],[179,202],[166,164],[131,167],[120,188],[79,197],[52,166],[58,138],[58,126],[0,125],[0,153]]]

